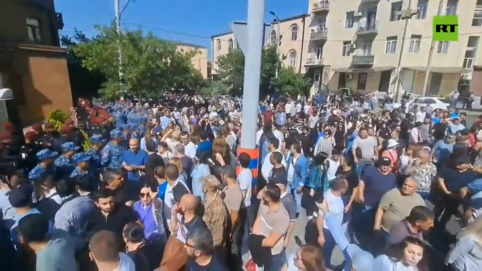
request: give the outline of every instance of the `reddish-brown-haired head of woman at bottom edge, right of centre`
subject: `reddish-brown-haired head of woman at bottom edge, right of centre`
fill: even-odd
[[[327,271],[319,247],[302,245],[296,252],[294,264],[299,271]]]

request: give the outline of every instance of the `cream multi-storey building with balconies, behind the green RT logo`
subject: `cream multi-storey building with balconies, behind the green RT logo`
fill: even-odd
[[[316,3],[312,0],[311,12]],[[432,18],[438,1],[412,0],[331,0],[328,13],[328,41],[324,51],[324,84],[330,89],[393,92],[400,62],[400,90],[422,93],[425,68],[432,41]],[[482,61],[478,42],[480,27],[474,19],[480,0],[444,0],[442,14],[458,15],[458,41],[435,42],[427,94],[443,95],[456,90],[463,74]],[[480,3],[479,3],[480,4]],[[404,46],[403,17],[409,19]],[[475,16],[478,13],[476,12]],[[473,20],[474,19],[474,20]],[[401,52],[401,48],[403,51]],[[401,54],[401,55],[400,55]]]

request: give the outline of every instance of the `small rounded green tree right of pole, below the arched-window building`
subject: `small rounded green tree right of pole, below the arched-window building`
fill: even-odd
[[[282,67],[278,78],[271,80],[271,87],[278,93],[297,96],[307,94],[311,88],[311,79],[299,74],[293,67]]]

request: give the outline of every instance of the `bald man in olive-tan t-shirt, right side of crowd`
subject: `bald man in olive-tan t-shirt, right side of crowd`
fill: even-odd
[[[374,229],[390,232],[392,226],[405,219],[416,206],[425,206],[422,197],[415,192],[417,182],[412,178],[403,181],[400,188],[389,190],[382,196],[375,215]]]

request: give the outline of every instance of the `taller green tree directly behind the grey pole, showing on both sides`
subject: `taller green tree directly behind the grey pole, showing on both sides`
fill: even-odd
[[[276,74],[276,48],[263,49],[261,61],[260,93],[272,93],[271,80]],[[233,49],[228,54],[217,59],[218,76],[220,81],[230,90],[231,94],[241,95],[244,80],[244,55],[240,49]]]

